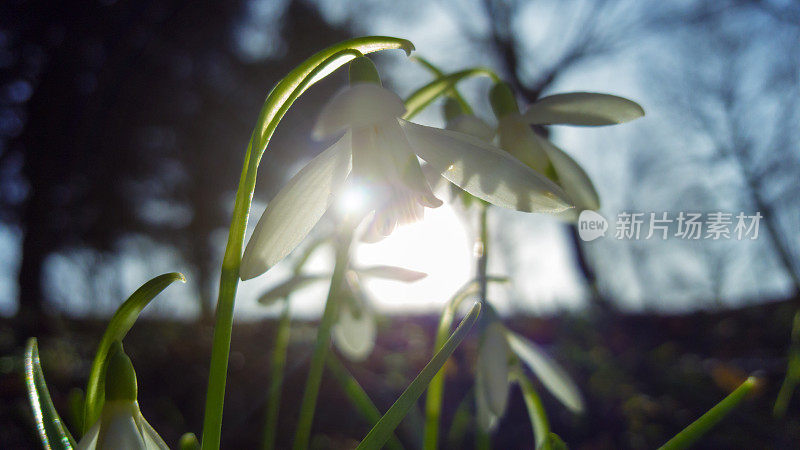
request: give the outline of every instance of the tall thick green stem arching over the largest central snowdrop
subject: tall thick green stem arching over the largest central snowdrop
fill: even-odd
[[[203,419],[203,450],[219,448],[222,433],[222,407],[225,401],[225,382],[230,354],[233,306],[239,284],[239,266],[242,261],[247,218],[256,185],[256,172],[275,128],[292,103],[314,83],[330,75],[348,61],[363,54],[403,49],[410,54],[414,45],[405,39],[385,36],[366,36],[340,42],[317,52],[294,68],[267,96],[256,127],[250,135],[245,151],[239,187],[233,205],[228,243],[222,259],[214,338],[211,347],[211,364],[208,374],[205,417]]]

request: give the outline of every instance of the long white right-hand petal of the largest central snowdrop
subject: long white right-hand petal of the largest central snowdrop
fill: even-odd
[[[567,194],[555,183],[487,142],[405,120],[400,125],[417,155],[478,198],[527,212],[571,207]]]

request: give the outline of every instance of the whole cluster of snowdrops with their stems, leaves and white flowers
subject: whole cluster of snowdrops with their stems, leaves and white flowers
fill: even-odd
[[[483,443],[478,444],[488,448],[492,430],[503,419],[510,385],[518,383],[533,428],[535,442],[530,446],[566,447],[549,430],[537,389],[544,388],[548,395],[575,413],[583,410],[580,391],[543,349],[509,330],[487,301],[487,285],[507,280],[486,273],[489,245],[486,211],[495,205],[575,221],[581,211],[599,208],[598,195],[586,172],[537,130],[547,125],[619,124],[642,117],[644,111],[630,100],[587,92],[552,95],[520,108],[511,86],[490,69],[478,67],[444,73],[420,58],[416,61],[431,71],[433,80],[403,100],[382,86],[378,70],[365,56],[389,49],[402,49],[410,54],[413,45],[391,37],[362,37],[339,43],[311,56],[280,80],[268,95],[246,149],[222,262],[202,438],[198,440],[187,433],[177,443],[178,447],[219,448],[233,310],[240,280],[264,274],[284,259],[306,239],[338,196],[357,189],[367,193],[362,207],[337,216],[335,230],[307,245],[305,253],[296,258],[293,275],[259,299],[265,304],[282,301],[284,305],[273,343],[270,398],[263,433],[264,447],[273,448],[290,326],[288,299],[309,283],[330,280],[294,435],[294,448],[307,448],[325,367],[358,386],[339,356],[330,351],[331,341],[337,345],[339,354],[356,362],[369,355],[374,343],[375,312],[361,289],[361,280],[381,277],[413,282],[425,276],[400,267],[355,267],[350,260],[351,248],[359,242],[380,240],[397,226],[422,219],[425,208],[442,205],[440,197],[447,190],[445,185],[449,185],[448,195],[454,201],[479,212],[476,275],[445,303],[430,362],[385,414],[371,403],[363,389],[350,390],[357,409],[374,425],[358,448],[384,445],[402,448],[394,430],[426,391],[422,445],[426,449],[440,446],[439,417],[445,386],[441,368],[475,324],[479,347],[473,410],[478,424],[476,440]],[[269,201],[245,246],[257,169],[275,128],[306,89],[342,66],[349,70],[349,85],[327,102],[312,130],[315,139],[330,139],[333,144]],[[490,79],[488,96],[496,126],[477,117],[457,90],[460,81],[478,76]],[[435,102],[437,99],[443,101]],[[444,129],[410,121],[431,105],[442,106]],[[303,271],[304,263],[309,253],[322,243],[335,249],[333,273],[308,275]],[[46,448],[168,448],[142,417],[137,403],[136,374],[121,342],[142,309],[174,281],[185,280],[178,273],[153,278],[134,292],[111,318],[89,374],[83,402],[84,426],[74,430],[81,436],[77,441],[52,404],[36,340],[29,341],[26,379],[39,436]],[[462,307],[469,306],[464,305],[466,300],[475,298],[477,301],[471,307]],[[460,312],[464,317],[451,332]],[[754,382],[749,379],[723,400],[728,402],[727,409],[713,414],[714,410],[710,411],[708,414],[712,416],[701,417],[665,447],[680,448],[696,440],[721,418],[720,414],[735,406]]]

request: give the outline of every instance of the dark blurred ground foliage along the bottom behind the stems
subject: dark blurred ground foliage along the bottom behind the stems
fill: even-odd
[[[800,402],[789,404],[785,419],[772,417],[772,405],[786,367],[794,305],[775,303],[735,312],[696,313],[674,317],[619,315],[604,319],[565,315],[553,319],[515,317],[508,326],[543,346],[581,386],[586,413],[575,416],[534,380],[549,414],[551,429],[570,448],[655,448],[727,395],[747,374],[763,378],[760,390],[701,441],[704,448],[789,448],[800,439]],[[274,321],[240,324],[234,329],[226,400],[223,446],[254,448],[261,433],[269,389],[270,342]],[[0,322],[0,335],[12,323]],[[70,390],[82,386],[93,348],[104,324],[67,322],[60,337],[40,344],[42,366],[53,401],[72,430]],[[278,430],[293,430],[315,324],[292,329],[281,398]],[[386,411],[427,362],[435,338],[433,316],[394,318],[382,323],[377,346],[363,363],[346,363],[375,405]],[[697,330],[703,330],[698,333]],[[137,367],[142,412],[171,445],[202,421],[210,328],[203,325],[140,321],[126,338],[126,350]],[[4,345],[8,345],[8,341]],[[3,354],[11,349],[3,347]],[[446,366],[443,436],[447,442],[470,442],[471,387],[477,337],[468,338]],[[8,447],[35,447],[36,431],[21,377],[21,353],[2,365],[0,374],[0,441]],[[518,389],[515,387],[514,389]],[[509,409],[493,435],[495,448],[530,448],[530,421],[521,395],[509,397]],[[370,424],[361,419],[335,377],[322,382],[313,442],[343,448],[361,439]],[[419,409],[422,402],[418,403]],[[470,414],[471,416],[471,414]],[[419,419],[419,416],[417,417]],[[460,425],[455,422],[460,423]],[[421,422],[407,418],[397,437],[407,447],[419,444]],[[290,444],[292,433],[279,432],[277,447]],[[444,438],[443,438],[444,439]],[[324,444],[323,444],[324,443]],[[455,444],[454,444],[455,445]],[[460,445],[459,445],[460,447]]]

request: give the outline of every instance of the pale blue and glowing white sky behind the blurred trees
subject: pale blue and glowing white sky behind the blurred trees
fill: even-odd
[[[572,2],[574,6],[581,2]],[[272,58],[284,54],[280,24],[286,1],[253,0],[243,8],[239,20],[231,27],[234,51],[245,61],[269,64]],[[391,4],[382,2],[347,2],[321,0],[316,3],[323,17],[330,23],[350,28],[354,34],[380,34],[407,38],[414,42],[417,53],[445,70],[458,70],[476,65],[496,67],[497,55],[476,51],[466,36],[466,31],[481,35],[488,30],[487,18],[481,13],[479,2],[463,2],[458,10],[449,2],[409,1]],[[536,2],[522,7],[513,20],[513,31],[526,43],[523,50],[532,55],[523,66],[524,73],[536,73],[537,64],[546,64],[556,57],[559,43],[541,45],[552,36],[551,29],[563,11],[558,2]],[[566,8],[566,6],[564,7]],[[598,18],[598,21],[613,19]],[[611,22],[609,22],[609,25]],[[575,30],[564,30],[565,36]],[[691,44],[691,38],[690,38]],[[528,44],[529,43],[529,44]],[[719,192],[715,179],[697,170],[679,175],[644,179],[632,168],[637,158],[650,158],[670,167],[680,167],[682,153],[702,155],[710,152],[712,143],[702,135],[687,132],[674,117],[674,110],[664,104],[664,95],[654,86],[658,76],[677,77],[670,72],[668,61],[671,52],[681,44],[680,36],[645,37],[634,45],[621,48],[603,58],[591,59],[561,76],[553,92],[595,91],[612,93],[639,102],[647,112],[644,119],[619,127],[601,129],[553,128],[553,142],[579,161],[594,180],[602,198],[599,211],[610,222],[621,211],[643,212],[679,211],[745,211],[754,213],[746,202],[730,197],[711,196],[705,203],[685,197],[682,189],[700,184],[710,192]],[[685,44],[685,43],[684,43]],[[660,63],[648,59],[653,52],[665,54]],[[767,58],[772,51],[755,46],[755,60]],[[389,54],[390,53],[390,54]],[[418,65],[407,60],[402,52],[387,52],[376,58],[379,71],[386,84],[401,96],[412,92],[430,79]],[[661,65],[659,65],[661,64]],[[654,75],[654,73],[656,75]],[[524,74],[523,74],[524,76]],[[757,75],[756,75],[757,77]],[[479,115],[491,121],[486,91],[487,79],[464,82],[460,88],[473,103]],[[313,89],[313,88],[312,88]],[[442,126],[438,106],[415,118],[426,125]],[[309,121],[308,127],[312,125]],[[668,144],[667,144],[668,142]],[[663,155],[663,156],[662,156]],[[678,156],[676,156],[678,155]],[[296,161],[288,172],[296,172],[304,161]],[[717,170],[717,169],[715,169]],[[724,167],[719,170],[726,170]],[[732,170],[732,169],[731,169]],[[735,178],[736,173],[722,173],[721,177]],[[666,192],[666,194],[664,193]],[[250,232],[255,219],[260,216],[267,199],[256,198]],[[734,199],[735,200],[735,199]],[[378,244],[361,244],[354,251],[358,265],[393,264],[428,273],[428,277],[412,284],[372,280],[366,283],[375,306],[386,313],[426,313],[441,309],[442,304],[474,271],[472,242],[474,241],[474,213],[465,213],[456,205],[445,205],[428,210],[426,219],[418,224],[401,227],[391,237]],[[498,308],[507,314],[527,312],[552,314],[562,309],[576,309],[586,304],[588,292],[581,282],[572,261],[570,243],[561,222],[538,214],[523,214],[493,208],[490,212],[492,227],[490,273],[509,275],[513,283],[492,286],[490,297]],[[791,225],[789,225],[791,230]],[[225,232],[213,236],[218,242],[221,257]],[[20,233],[12,228],[0,229],[0,254],[18,254]],[[792,241],[800,246],[800,237]],[[148,246],[149,245],[149,246]],[[699,246],[698,246],[699,245]],[[710,243],[682,242],[670,239],[665,242],[629,242],[613,238],[613,233],[585,244],[590,258],[613,263],[597,264],[601,288],[610,293],[618,305],[630,311],[656,310],[664,312],[687,311],[709,306],[736,306],[752,299],[775,299],[787,295],[789,280],[777,269],[774,257],[769,256],[762,238],[758,242],[728,242],[731,258],[741,261],[730,269],[732,281],[722,285],[722,299],[712,299],[713,292],[706,276],[708,261],[701,256],[704,246]],[[144,250],[143,250],[144,249]],[[147,255],[147,264],[141,263]],[[756,271],[752,261],[743,255],[759,255]],[[638,255],[638,256],[637,256]],[[644,257],[642,257],[644,255]],[[72,252],[55,255],[47,265],[49,293],[57,307],[68,314],[81,316],[107,314],[144,280],[155,273],[187,271],[174,257],[170,248],[148,244],[146,240],[131,238],[120,244],[120,256],[108,263],[109,273],[123,273],[120,283],[106,283],[109,277],[80,274],[76,267],[81,260],[95,256],[89,252]],[[639,259],[637,259],[639,258]],[[315,253],[308,270],[325,273],[330,270],[331,252],[322,249]],[[274,314],[274,309],[261,307],[256,298],[266,289],[282,282],[290,274],[290,261],[279,264],[268,274],[242,283],[237,303],[240,318],[256,318]],[[2,258],[0,262],[0,314],[11,315],[15,310],[14,277],[16,258]],[[643,271],[647,271],[644,273]],[[644,275],[643,275],[644,273]],[[191,273],[187,273],[191,280]],[[114,276],[114,275],[111,275]],[[644,281],[643,281],[644,280]],[[679,280],[680,283],[675,283]],[[190,317],[196,307],[192,298],[197,286],[170,287],[159,300],[151,314]],[[720,290],[717,289],[717,290]],[[84,293],[100,292],[107,301],[100,306],[81,302]],[[324,283],[312,285],[297,293],[292,299],[293,313],[311,317],[321,311],[327,287]]]

